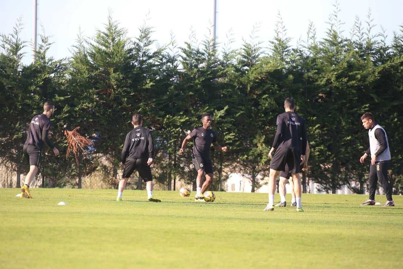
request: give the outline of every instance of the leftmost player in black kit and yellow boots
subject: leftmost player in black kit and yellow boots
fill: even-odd
[[[50,120],[54,113],[54,104],[50,101],[44,103],[44,112],[35,115],[29,123],[28,136],[23,146],[24,158],[29,162],[29,172],[25,177],[25,185],[21,188],[21,198],[32,198],[29,185],[38,173],[39,163],[44,144],[52,148],[54,155],[59,155],[58,149],[50,142],[48,136],[52,135]]]

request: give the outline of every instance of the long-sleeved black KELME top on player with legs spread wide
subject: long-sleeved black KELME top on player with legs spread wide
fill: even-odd
[[[122,163],[127,159],[148,159],[154,157],[154,142],[151,131],[137,126],[126,135],[122,150]]]

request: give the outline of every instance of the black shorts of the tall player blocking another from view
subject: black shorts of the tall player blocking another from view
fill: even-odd
[[[301,154],[299,150],[277,148],[270,163],[270,169],[286,172],[286,165],[288,165],[288,173],[297,174],[301,172]]]

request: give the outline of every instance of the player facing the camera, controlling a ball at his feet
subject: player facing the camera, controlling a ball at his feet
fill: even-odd
[[[182,142],[182,147],[179,150],[180,153],[185,151],[187,142],[193,138],[193,165],[197,170],[196,177],[196,196],[195,201],[204,200],[204,192],[213,181],[213,165],[210,160],[210,147],[213,144],[216,150],[227,151],[227,147],[222,147],[217,143],[216,132],[211,130],[212,117],[209,113],[202,115],[203,127],[193,129],[189,135],[185,137]],[[206,177],[206,181],[202,184],[202,176]]]

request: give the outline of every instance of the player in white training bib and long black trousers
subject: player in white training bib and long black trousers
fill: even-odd
[[[364,113],[361,116],[362,126],[368,129],[368,136],[370,138],[370,148],[367,152],[359,158],[361,163],[368,155],[371,155],[370,164],[370,198],[362,203],[365,205],[375,204],[375,191],[378,180],[386,195],[386,203],[383,206],[395,206],[392,199],[392,188],[388,180],[388,166],[391,160],[391,152],[389,150],[388,136],[386,131],[375,121],[374,115],[370,112]]]

